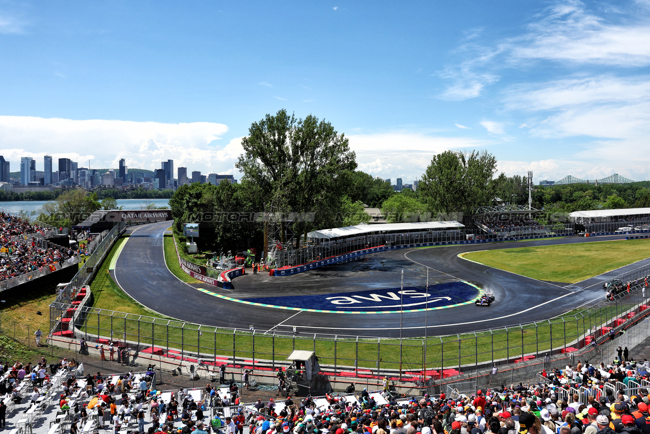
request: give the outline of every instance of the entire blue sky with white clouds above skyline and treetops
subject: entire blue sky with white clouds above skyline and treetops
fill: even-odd
[[[0,155],[237,173],[280,108],[404,183],[486,149],[535,181],[650,179],[648,1],[0,0]]]

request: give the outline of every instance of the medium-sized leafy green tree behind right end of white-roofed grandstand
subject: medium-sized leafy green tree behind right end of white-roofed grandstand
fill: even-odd
[[[497,160],[486,151],[445,151],[434,155],[418,190],[432,212],[471,213],[473,207],[491,203],[496,171]]]

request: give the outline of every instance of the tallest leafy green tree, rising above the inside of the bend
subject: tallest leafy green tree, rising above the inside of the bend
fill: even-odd
[[[242,146],[236,167],[259,190],[267,209],[314,213],[313,221],[295,220],[294,233],[335,223],[357,166],[344,134],[311,114],[303,120],[279,110],[253,122]]]

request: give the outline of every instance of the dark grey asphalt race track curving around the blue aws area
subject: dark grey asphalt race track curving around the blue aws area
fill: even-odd
[[[369,255],[368,259],[336,264],[298,275],[269,277],[246,274],[233,281],[233,289],[207,284],[188,285],[166,267],[163,234],[169,222],[151,223],[131,229],[111,271],[116,283],[134,300],[149,309],[178,320],[219,327],[248,329],[253,324],[259,333],[278,329],[329,335],[404,337],[467,333],[506,325],[545,320],[586,303],[603,300],[603,281],[627,270],[650,264],[650,259],[634,262],[612,272],[591,277],[573,285],[551,283],[497,270],[458,257],[467,251],[549,246],[621,240],[624,236],[598,237],[596,240],[567,237],[551,240],[495,242],[436,248],[398,249]],[[331,293],[357,293],[360,290],[400,288],[445,283],[462,279],[492,292],[491,307],[473,303],[445,309],[419,309],[403,313],[322,313],[305,309],[264,307],[232,300],[277,298]],[[340,294],[339,294],[340,295]],[[119,307],[116,307],[119,310]]]

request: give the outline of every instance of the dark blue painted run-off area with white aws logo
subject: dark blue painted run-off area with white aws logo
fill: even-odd
[[[244,301],[298,309],[322,311],[412,311],[451,307],[474,300],[478,289],[465,282],[439,283],[424,287],[375,289],[335,294],[317,294],[287,297],[246,298]],[[428,294],[428,295],[427,295]]]

